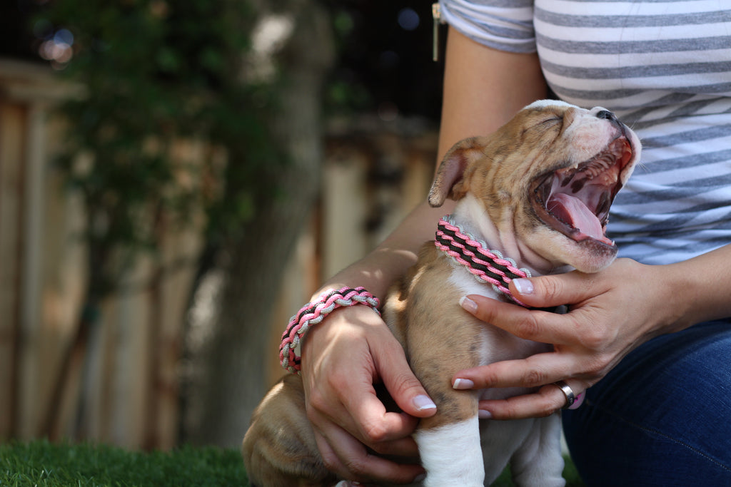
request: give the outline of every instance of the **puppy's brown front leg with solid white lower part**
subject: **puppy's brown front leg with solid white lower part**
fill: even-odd
[[[482,487],[480,392],[455,390],[451,379],[458,370],[485,361],[484,323],[459,307],[461,289],[439,285],[450,281],[452,267],[436,253],[433,245],[423,248],[424,272],[416,273],[410,306],[391,321],[392,329],[401,337],[414,375],[436,404],[436,414],[423,418],[414,434],[427,472],[424,486]]]

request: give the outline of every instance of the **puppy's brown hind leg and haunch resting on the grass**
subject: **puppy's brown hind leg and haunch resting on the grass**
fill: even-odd
[[[297,375],[284,377],[254,410],[242,453],[252,486],[333,486],[337,481],[317,450]]]

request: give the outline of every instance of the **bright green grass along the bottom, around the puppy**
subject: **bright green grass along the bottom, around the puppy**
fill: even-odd
[[[584,485],[569,459],[564,478],[569,487]],[[183,446],[163,453],[44,440],[0,443],[0,487],[246,485],[238,450]],[[493,483],[496,487],[512,485],[510,469]]]

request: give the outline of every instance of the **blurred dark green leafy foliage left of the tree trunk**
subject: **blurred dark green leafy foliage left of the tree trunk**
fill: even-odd
[[[54,0],[34,19],[47,40],[72,34],[72,57],[51,63],[84,94],[61,107],[58,165],[90,211],[92,265],[117,264],[104,285],[128,264],[121,250],[156,247],[159,218],[202,208],[222,239],[267,197],[260,175],[281,154],[264,121],[273,82],[246,81],[254,18],[242,0]],[[210,148],[202,164],[174,156],[183,139]]]

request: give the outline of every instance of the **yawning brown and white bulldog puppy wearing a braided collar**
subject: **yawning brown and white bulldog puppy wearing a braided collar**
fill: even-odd
[[[480,399],[520,388],[460,391],[461,369],[550,350],[477,321],[458,302],[466,294],[506,296],[512,276],[596,272],[617,248],[607,215],[640,155],[629,128],[602,108],[537,101],[488,137],[458,142],[444,157],[429,203],[457,201],[435,242],[420,250],[393,286],[383,315],[414,374],[436,403],[414,439],[425,486],[489,485],[508,461],[521,486],[563,486],[558,413],[515,421],[478,420]],[[253,415],[243,455],[257,486],[330,486],[304,406],[302,382],[286,377]]]

